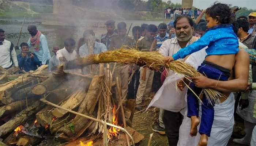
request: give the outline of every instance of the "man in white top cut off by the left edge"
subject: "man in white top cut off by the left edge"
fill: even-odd
[[[4,30],[0,29],[0,66],[9,69],[12,65],[19,66],[16,51],[10,41],[5,39]]]

